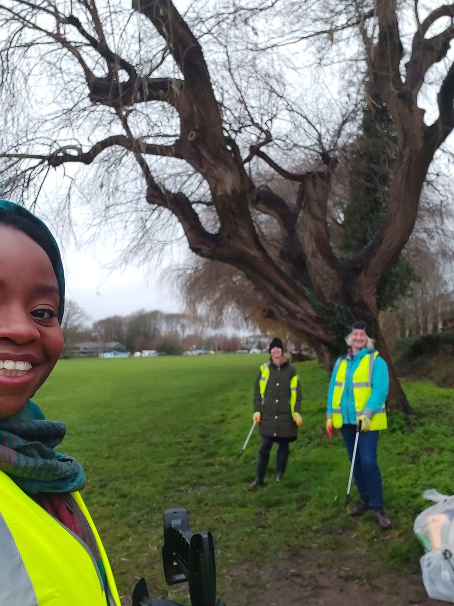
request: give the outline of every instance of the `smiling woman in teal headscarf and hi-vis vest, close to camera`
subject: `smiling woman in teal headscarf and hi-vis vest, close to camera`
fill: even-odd
[[[120,606],[79,490],[82,466],[54,448],[66,427],[31,397],[63,348],[65,281],[47,227],[0,201],[0,603]]]

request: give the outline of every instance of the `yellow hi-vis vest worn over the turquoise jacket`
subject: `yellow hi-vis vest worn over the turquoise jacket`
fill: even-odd
[[[378,356],[378,351],[373,354],[364,356],[358,368],[355,370],[352,376],[353,382],[353,397],[355,401],[355,411],[357,419],[361,416],[363,408],[366,406],[367,400],[372,392],[372,370],[375,358]],[[346,382],[346,371],[347,361],[343,359],[337,368],[336,382],[334,385],[334,393],[332,396],[332,424],[336,429],[339,429],[343,425],[342,410],[341,410],[341,399],[344,393],[345,382]],[[373,415],[370,419],[370,430],[386,429],[388,426],[386,417],[386,407],[383,406],[380,410]]]

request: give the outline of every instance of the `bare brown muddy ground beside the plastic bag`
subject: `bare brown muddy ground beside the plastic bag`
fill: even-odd
[[[285,554],[275,564],[237,565],[218,580],[227,606],[452,606],[427,597],[421,573],[400,574],[377,567],[356,553],[357,542],[343,538],[343,548]],[[329,563],[328,563],[329,562]],[[179,602],[187,585],[174,585],[168,596]],[[122,599],[131,606],[130,599]]]

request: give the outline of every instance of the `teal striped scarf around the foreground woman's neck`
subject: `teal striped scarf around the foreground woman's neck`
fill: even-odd
[[[67,493],[85,485],[84,470],[54,448],[66,433],[61,421],[47,421],[29,400],[16,415],[0,419],[0,470],[26,493]]]

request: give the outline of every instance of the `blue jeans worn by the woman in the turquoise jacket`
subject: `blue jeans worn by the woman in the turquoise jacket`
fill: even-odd
[[[357,426],[343,425],[341,431],[351,462],[355,437],[357,435]],[[378,433],[378,431],[360,432],[355,467],[353,468],[358,493],[360,493],[363,501],[369,501],[369,505],[373,509],[383,508],[381,473],[377,464]]]

